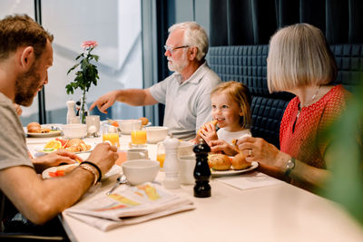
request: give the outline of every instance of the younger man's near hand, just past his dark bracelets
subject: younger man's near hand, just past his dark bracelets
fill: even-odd
[[[87,160],[97,165],[104,175],[113,167],[117,158],[117,147],[104,142],[94,148]]]

